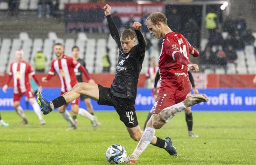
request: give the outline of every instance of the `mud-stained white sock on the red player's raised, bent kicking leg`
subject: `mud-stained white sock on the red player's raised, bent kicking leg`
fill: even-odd
[[[183,102],[177,103],[173,106],[169,106],[163,109],[161,113],[161,118],[165,120],[165,122],[170,121],[175,115],[177,115],[182,110],[186,109],[187,107],[184,105]],[[159,113],[159,115],[160,115]]]

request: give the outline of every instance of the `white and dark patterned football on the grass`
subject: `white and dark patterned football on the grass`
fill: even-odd
[[[106,158],[110,164],[121,164],[125,162],[126,150],[122,145],[113,144],[107,148]]]

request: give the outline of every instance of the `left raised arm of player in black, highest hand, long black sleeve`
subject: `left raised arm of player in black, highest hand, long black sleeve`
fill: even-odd
[[[110,35],[112,36],[112,38],[116,41],[116,44],[120,49],[122,49],[121,47],[121,42],[120,42],[120,35],[119,35],[119,32],[118,32],[118,29],[112,19],[112,16],[111,16],[111,13],[110,13],[110,6],[107,4],[104,6],[103,10],[105,11],[105,16],[107,18],[107,22],[108,22],[108,27],[110,29]]]

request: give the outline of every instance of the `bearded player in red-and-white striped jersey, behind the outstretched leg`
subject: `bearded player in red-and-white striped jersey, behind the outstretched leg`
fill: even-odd
[[[74,68],[80,69],[89,82],[94,82],[94,80],[92,80],[89,74],[87,73],[86,69],[82,65],[80,65],[79,62],[77,62],[72,57],[69,57],[63,54],[64,47],[62,44],[60,43],[54,44],[53,50],[57,58],[52,60],[51,68],[48,73],[48,76],[42,78],[43,82],[48,82],[48,80],[50,80],[54,76],[54,73],[57,73],[58,77],[61,80],[60,95],[63,95],[67,91],[70,91],[70,89],[72,89],[73,86],[75,86],[77,83]],[[79,112],[78,105],[79,105],[79,98],[71,102],[71,110],[72,110],[73,116],[78,114]],[[76,123],[70,117],[70,114],[66,111],[66,105],[59,107],[58,111],[61,113],[63,118],[70,124],[70,127],[67,130],[76,129]],[[81,114],[79,113],[79,115]]]

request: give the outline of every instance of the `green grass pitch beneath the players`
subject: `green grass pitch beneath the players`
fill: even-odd
[[[78,117],[78,129],[67,132],[68,124],[57,112],[45,115],[41,126],[34,112],[25,112],[29,124],[21,126],[15,112],[0,112],[10,124],[0,127],[0,164],[109,165],[107,147],[121,144],[128,155],[137,145],[119,121],[116,112],[95,112],[101,126],[93,131],[86,118]],[[147,112],[137,112],[144,124]],[[138,165],[169,164],[256,164],[255,112],[193,112],[194,131],[189,138],[184,112],[175,116],[156,136],[170,136],[178,156],[169,156],[150,145]]]

